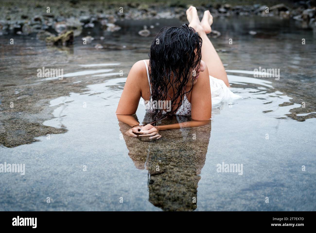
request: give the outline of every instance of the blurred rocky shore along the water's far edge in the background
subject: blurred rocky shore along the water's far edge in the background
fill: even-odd
[[[110,1],[111,2],[111,1]],[[209,2],[209,3],[207,3]],[[265,3],[265,2],[264,2]],[[252,4],[236,5],[210,3],[200,1],[196,7],[201,14],[210,10],[214,17],[219,16],[278,16],[297,20],[304,29],[316,30],[316,0],[299,1],[296,3],[279,3],[276,5]],[[185,10],[190,4],[185,3],[108,3],[104,1],[3,1],[0,7],[0,36],[6,34],[36,35],[37,39],[49,44],[63,38],[65,32],[73,30],[79,36],[82,29],[101,27],[107,31],[118,31],[116,24],[121,20],[144,20],[160,18],[178,18],[186,20]],[[68,33],[69,34],[69,33]],[[67,36],[69,37],[69,35]],[[146,36],[146,28],[139,33]],[[71,41],[62,42],[69,44]]]

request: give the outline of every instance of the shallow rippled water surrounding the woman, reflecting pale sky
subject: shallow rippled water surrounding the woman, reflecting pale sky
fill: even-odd
[[[257,17],[216,19],[213,29],[243,99],[213,106],[210,125],[162,131],[157,141],[127,137],[115,115],[150,38],[126,26],[114,37],[92,31],[106,39],[84,46],[77,38],[64,50],[22,37],[9,47],[1,37],[0,163],[25,164],[26,173],[0,174],[0,210],[316,210],[315,35]],[[64,79],[38,78],[42,66],[64,68]],[[280,68],[280,80],[254,78],[259,66]],[[136,115],[149,120],[142,101]],[[217,172],[223,162],[242,164],[242,173]]]

